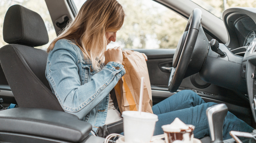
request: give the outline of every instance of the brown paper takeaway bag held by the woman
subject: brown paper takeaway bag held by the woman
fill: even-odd
[[[152,92],[145,57],[136,51],[123,50],[122,65],[126,73],[115,86],[120,112],[139,110],[140,81],[141,77],[144,77],[142,112],[153,113]]]

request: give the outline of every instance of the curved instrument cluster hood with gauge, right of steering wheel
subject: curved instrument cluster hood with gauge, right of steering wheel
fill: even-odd
[[[225,45],[231,51],[249,46],[256,38],[256,8],[229,8],[223,13],[223,21],[228,33]]]

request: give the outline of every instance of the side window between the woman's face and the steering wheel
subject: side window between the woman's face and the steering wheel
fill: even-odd
[[[127,49],[174,49],[183,34],[187,20],[152,0],[117,0],[125,11],[123,27],[116,42],[108,47]],[[77,9],[83,3],[74,0]]]

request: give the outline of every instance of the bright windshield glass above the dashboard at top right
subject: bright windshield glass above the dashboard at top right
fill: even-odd
[[[256,0],[191,0],[205,10],[222,19],[225,9],[234,7],[256,7]]]

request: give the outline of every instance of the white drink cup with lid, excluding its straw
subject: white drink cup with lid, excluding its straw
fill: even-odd
[[[123,128],[125,143],[150,142],[158,116],[139,111],[123,111]]]

